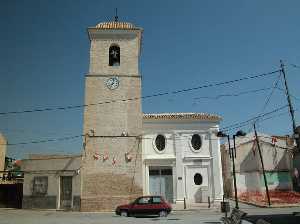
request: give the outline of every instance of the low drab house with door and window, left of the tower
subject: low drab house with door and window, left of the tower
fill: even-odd
[[[80,155],[32,155],[22,160],[23,208],[79,210],[80,163]]]

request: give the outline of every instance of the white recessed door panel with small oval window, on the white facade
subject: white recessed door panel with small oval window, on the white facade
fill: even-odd
[[[191,203],[208,202],[210,196],[208,167],[186,167],[186,195]]]

